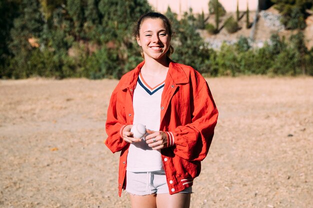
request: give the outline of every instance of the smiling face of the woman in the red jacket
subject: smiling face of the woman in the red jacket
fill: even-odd
[[[144,58],[160,59],[166,57],[170,37],[160,18],[143,20],[139,29],[137,43],[142,47]]]

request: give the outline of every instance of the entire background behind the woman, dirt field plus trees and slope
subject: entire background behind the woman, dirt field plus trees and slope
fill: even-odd
[[[219,112],[190,208],[312,207],[312,4],[0,0],[0,208],[129,208],[104,124],[150,10]]]

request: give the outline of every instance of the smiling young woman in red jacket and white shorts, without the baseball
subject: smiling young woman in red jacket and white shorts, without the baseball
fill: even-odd
[[[163,14],[142,15],[134,35],[144,61],[120,79],[105,125],[106,146],[121,151],[118,194],[128,192],[132,208],[189,208],[218,112],[205,79],[168,58],[172,31]],[[144,139],[130,132],[138,123],[148,129]]]

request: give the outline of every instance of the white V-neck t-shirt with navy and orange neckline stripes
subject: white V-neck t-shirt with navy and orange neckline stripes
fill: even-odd
[[[142,124],[149,130],[159,131],[164,83],[165,81],[151,88],[139,73],[132,99],[133,124]],[[143,139],[141,142],[130,144],[127,155],[127,171],[151,172],[162,169],[160,151],[152,150]]]

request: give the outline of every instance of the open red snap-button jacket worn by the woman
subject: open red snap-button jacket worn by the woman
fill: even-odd
[[[133,121],[132,96],[144,61],[126,73],[112,92],[107,109],[105,145],[112,153],[121,151],[118,195],[126,187],[129,143],[121,137],[124,125]],[[168,136],[161,149],[169,194],[192,186],[207,155],[217,121],[217,109],[205,79],[193,68],[170,61],[161,97],[160,131]]]

